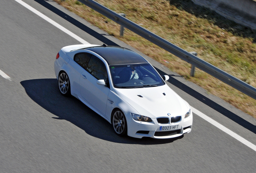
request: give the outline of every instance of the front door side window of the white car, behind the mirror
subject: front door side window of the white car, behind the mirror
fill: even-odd
[[[94,55],[91,56],[86,70],[98,80],[107,79],[107,69],[105,64]]]

